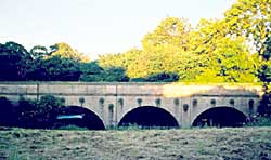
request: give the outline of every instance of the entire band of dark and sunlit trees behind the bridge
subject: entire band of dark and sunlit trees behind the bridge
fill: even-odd
[[[0,80],[270,83],[270,0],[237,0],[222,19],[202,19],[196,27],[167,17],[143,37],[141,50],[98,62],[63,42],[29,52],[7,42],[0,44]]]

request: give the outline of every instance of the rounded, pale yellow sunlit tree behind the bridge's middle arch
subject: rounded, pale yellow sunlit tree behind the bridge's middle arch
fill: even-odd
[[[168,17],[144,36],[143,50],[126,65],[130,78],[144,78],[159,72],[179,72],[181,56],[189,50],[190,24]]]

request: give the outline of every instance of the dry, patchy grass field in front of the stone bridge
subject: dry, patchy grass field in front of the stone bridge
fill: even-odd
[[[271,159],[271,128],[62,131],[2,129],[0,159]]]

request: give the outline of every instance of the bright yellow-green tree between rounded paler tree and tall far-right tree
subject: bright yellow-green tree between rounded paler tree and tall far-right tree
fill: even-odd
[[[202,19],[191,34],[191,51],[197,54],[194,81],[255,82],[258,64],[242,36],[228,37],[224,21]]]

